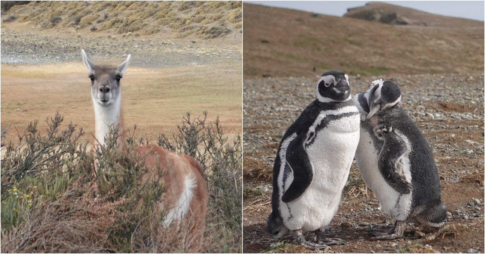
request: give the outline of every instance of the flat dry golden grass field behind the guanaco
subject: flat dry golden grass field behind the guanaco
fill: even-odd
[[[101,61],[99,57],[93,59]],[[120,61],[121,62],[121,61]],[[125,126],[138,125],[149,140],[170,135],[186,112],[209,120],[219,116],[226,133],[241,133],[241,69],[232,61],[171,68],[129,67],[122,79]],[[231,66],[232,65],[232,66]],[[220,71],[221,68],[225,71]],[[231,67],[227,67],[231,66]],[[1,125],[19,132],[59,112],[65,121],[94,130],[90,80],[81,63],[1,65]],[[43,129],[43,128],[42,128]],[[15,138],[15,135],[8,135]]]

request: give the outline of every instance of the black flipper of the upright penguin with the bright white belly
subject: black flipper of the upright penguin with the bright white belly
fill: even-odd
[[[313,180],[313,165],[304,148],[304,141],[304,136],[300,135],[288,145],[285,157],[291,167],[293,181],[281,197],[285,203],[298,199]]]

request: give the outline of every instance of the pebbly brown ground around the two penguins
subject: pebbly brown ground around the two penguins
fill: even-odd
[[[365,228],[391,224],[365,187],[356,164],[332,220],[328,237],[347,240],[326,253],[483,253],[484,252],[484,74],[351,76],[352,94],[370,81],[390,78],[401,86],[403,108],[418,124],[439,169],[442,200],[448,207],[441,228],[408,224],[403,239],[370,241]],[[315,98],[314,78],[245,80],[243,248],[246,253],[312,252],[292,238],[266,232],[271,211],[271,173],[286,129]],[[309,239],[311,234],[307,234]]]

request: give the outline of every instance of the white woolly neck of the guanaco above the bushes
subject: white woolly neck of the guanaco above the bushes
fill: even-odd
[[[113,104],[99,105],[94,103],[96,139],[101,145],[105,145],[105,138],[110,133],[111,128],[118,127],[119,134],[123,134],[121,121],[121,98],[118,98]],[[117,140],[118,146],[121,146],[122,135]]]

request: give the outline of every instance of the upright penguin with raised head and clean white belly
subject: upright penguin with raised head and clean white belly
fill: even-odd
[[[274,238],[293,235],[312,250],[347,243],[327,239],[325,227],[328,230],[339,208],[359,141],[359,111],[351,98],[348,75],[338,70],[324,73],[316,100],[284,134],[273,167],[267,223]],[[308,231],[315,232],[313,241],[303,237]]]

